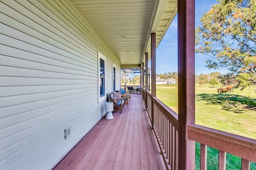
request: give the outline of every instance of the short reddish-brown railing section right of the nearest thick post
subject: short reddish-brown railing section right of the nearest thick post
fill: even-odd
[[[242,158],[242,170],[256,162],[256,140],[200,125],[188,126],[188,139],[201,143],[201,170],[206,170],[206,147],[219,150],[219,169],[226,169],[226,153]],[[250,160],[250,161],[249,161]]]

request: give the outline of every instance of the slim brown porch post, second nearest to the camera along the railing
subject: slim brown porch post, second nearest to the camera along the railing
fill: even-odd
[[[153,97],[156,97],[156,33],[151,33],[151,116],[152,116],[152,129],[154,125],[154,103]]]

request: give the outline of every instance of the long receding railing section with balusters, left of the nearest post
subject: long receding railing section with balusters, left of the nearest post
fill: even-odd
[[[152,97],[149,91],[143,89],[142,95],[166,168],[176,170],[178,169],[178,114],[156,97]]]

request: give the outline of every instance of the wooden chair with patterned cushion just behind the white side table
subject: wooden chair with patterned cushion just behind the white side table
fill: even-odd
[[[121,111],[123,112],[124,107],[124,99],[121,97],[120,92],[110,92],[107,94],[108,102],[113,102],[114,104],[114,111]]]

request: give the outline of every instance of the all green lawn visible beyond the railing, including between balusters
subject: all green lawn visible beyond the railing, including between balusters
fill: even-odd
[[[196,124],[256,139],[256,93],[255,87],[243,91],[218,94],[210,84],[196,84]],[[156,96],[178,113],[178,86],[158,85]],[[218,150],[208,147],[207,169],[218,169]],[[241,167],[241,158],[227,154],[226,169]],[[200,143],[196,143],[196,169],[200,169]],[[251,162],[251,170],[256,164]]]

